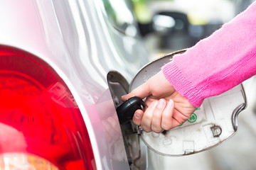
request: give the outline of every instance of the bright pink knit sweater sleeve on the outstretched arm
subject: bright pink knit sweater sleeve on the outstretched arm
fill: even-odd
[[[196,107],[256,74],[256,2],[162,71],[179,94]],[[256,88],[256,87],[255,87]]]

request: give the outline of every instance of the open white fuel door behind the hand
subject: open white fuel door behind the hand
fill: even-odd
[[[171,53],[147,64],[134,77],[129,91],[154,76],[174,55],[182,52],[185,50]],[[194,154],[215,147],[235,135],[238,130],[238,113],[245,106],[245,91],[240,84],[219,96],[206,98],[191,118],[177,128],[156,133],[144,132],[137,127],[137,133],[147,147],[159,154]]]

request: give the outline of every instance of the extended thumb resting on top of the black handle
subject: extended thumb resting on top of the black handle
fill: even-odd
[[[126,101],[133,96],[137,96],[142,99],[149,96],[151,94],[151,91],[149,90],[148,84],[148,81],[146,81],[144,84],[134,89],[131,93],[122,96],[122,101]]]

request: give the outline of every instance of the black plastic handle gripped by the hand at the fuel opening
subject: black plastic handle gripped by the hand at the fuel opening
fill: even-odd
[[[144,101],[142,101],[142,99],[137,96],[124,101],[124,103],[117,107],[117,116],[120,125],[123,125],[124,123],[129,122],[129,120],[132,120],[134,112],[137,109],[141,109],[143,111],[144,107]]]

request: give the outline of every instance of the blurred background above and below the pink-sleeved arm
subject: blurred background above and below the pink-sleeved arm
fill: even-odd
[[[252,4],[251,0],[131,0],[150,60],[206,38]],[[238,116],[238,132],[206,152],[186,157],[150,158],[149,169],[256,169],[256,79],[243,83],[247,108]],[[149,150],[149,152],[151,152]]]

